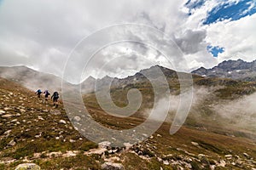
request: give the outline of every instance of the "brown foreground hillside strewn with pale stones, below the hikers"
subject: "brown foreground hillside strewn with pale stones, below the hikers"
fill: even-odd
[[[73,128],[62,105],[54,108],[14,82],[0,84],[0,169],[256,169],[255,141],[189,127],[170,135],[168,123],[141,144],[94,144]]]

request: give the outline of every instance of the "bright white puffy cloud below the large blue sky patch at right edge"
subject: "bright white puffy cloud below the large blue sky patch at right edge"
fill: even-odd
[[[256,59],[256,14],[236,21],[222,21],[207,27],[207,42],[223,47],[218,61],[225,59]]]

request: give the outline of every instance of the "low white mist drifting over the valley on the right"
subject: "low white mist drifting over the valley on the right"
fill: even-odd
[[[222,86],[205,88],[195,87],[193,90],[193,101],[189,110],[185,125],[200,127],[203,130],[214,131],[234,135],[235,133],[246,133],[246,136],[255,138],[256,132],[256,93],[240,97],[238,99],[219,99],[216,90],[224,88]],[[186,94],[185,94],[186,95]],[[173,123],[173,118],[177,114],[178,107],[188,107],[188,101],[181,100],[179,95],[170,95],[170,106],[167,98],[160,99],[154,104],[154,111],[158,112],[151,118],[155,121],[163,120],[163,112],[168,111],[166,122]],[[148,117],[151,110],[144,111],[144,116]]]

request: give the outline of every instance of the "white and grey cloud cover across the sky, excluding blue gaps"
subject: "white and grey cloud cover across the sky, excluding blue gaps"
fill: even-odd
[[[189,68],[183,68],[186,71],[200,66],[212,67],[223,59],[255,58],[255,14],[241,20],[225,20],[211,26],[202,26],[202,20],[207,18],[207,12],[222,2],[206,1],[201,8],[191,10],[191,15],[187,14],[188,8],[183,6],[186,2],[3,0],[0,4],[0,63],[29,65],[39,71],[61,76],[67,56],[79,40],[102,27],[120,23],[154,26],[172,37],[185,54],[189,64]],[[143,36],[146,34],[141,34],[137,38]],[[209,44],[224,47],[225,52],[215,59],[207,52]],[[166,59],[152,50],[148,51],[136,45],[131,48],[137,50],[137,54],[148,55],[148,59],[153,60],[155,64],[168,66]],[[115,54],[124,54],[121,52],[124,52],[124,48],[119,47]],[[104,65],[104,61],[111,59],[111,54],[114,53],[101,54],[96,60],[97,65],[91,66],[91,74],[96,75],[96,70]],[[177,64],[177,60],[173,59],[173,63]],[[130,59],[123,61],[123,66],[125,62],[131,65]],[[132,69],[140,70],[148,66],[148,62],[143,64],[142,59],[136,61],[138,63],[134,65],[137,67]],[[117,65],[119,62],[116,62]],[[124,66],[125,68],[127,67]],[[109,71],[112,70],[108,69],[105,73],[114,73]],[[118,72],[125,71],[119,68]]]

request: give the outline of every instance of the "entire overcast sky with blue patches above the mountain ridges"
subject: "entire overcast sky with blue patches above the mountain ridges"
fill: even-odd
[[[126,77],[156,64],[193,71],[226,59],[252,61],[256,58],[255,13],[254,0],[0,0],[0,66],[26,65],[59,77],[64,71],[76,75],[76,68],[86,67],[84,79]],[[102,46],[89,65],[81,65],[90,58],[77,53],[84,37],[125,23],[150,26],[172,40],[177,47],[170,46],[171,64],[164,53],[145,44],[118,42]],[[129,29],[131,39],[152,38],[156,46],[169,48],[168,40],[160,35]],[[122,37],[120,31],[110,31],[111,35],[89,46],[96,47],[107,38],[118,39]],[[78,58],[72,61],[73,69],[67,69],[73,54]],[[79,82],[72,77],[67,81]]]

